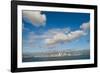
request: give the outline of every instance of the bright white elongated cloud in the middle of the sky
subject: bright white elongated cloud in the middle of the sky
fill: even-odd
[[[52,38],[46,39],[45,43],[47,45],[54,45],[60,42],[69,42],[72,40],[75,40],[77,38],[80,38],[81,36],[84,36],[85,33],[82,30],[76,30],[73,32],[70,32],[68,34],[65,33],[57,33]]]

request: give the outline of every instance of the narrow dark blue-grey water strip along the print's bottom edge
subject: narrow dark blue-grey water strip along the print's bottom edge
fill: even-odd
[[[90,59],[90,54],[84,54],[79,56],[63,56],[63,57],[30,57],[23,58],[23,62],[39,62],[39,61],[56,61],[56,60],[80,60]]]

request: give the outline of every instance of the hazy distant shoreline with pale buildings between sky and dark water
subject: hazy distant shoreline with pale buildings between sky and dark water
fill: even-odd
[[[88,55],[89,50],[62,50],[62,51],[48,51],[48,52],[34,52],[23,54],[23,58],[50,58],[50,57],[71,57]]]

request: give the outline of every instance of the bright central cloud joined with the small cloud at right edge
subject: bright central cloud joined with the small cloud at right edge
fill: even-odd
[[[48,39],[45,39],[45,43],[47,45],[54,45],[54,44],[58,44],[60,42],[70,42],[70,41],[73,41],[75,39],[78,39],[82,36],[85,36],[87,35],[87,33],[85,32],[86,30],[90,29],[90,22],[87,22],[87,23],[83,23],[79,30],[75,30],[75,31],[64,31],[64,32],[54,32],[55,35],[52,36],[52,38],[48,38]],[[67,33],[65,33],[67,32]]]

